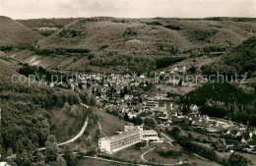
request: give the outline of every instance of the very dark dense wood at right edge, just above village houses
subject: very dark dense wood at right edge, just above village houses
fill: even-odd
[[[187,93],[181,100],[200,106],[200,112],[234,122],[256,126],[256,90],[244,92],[231,83],[207,83]]]

